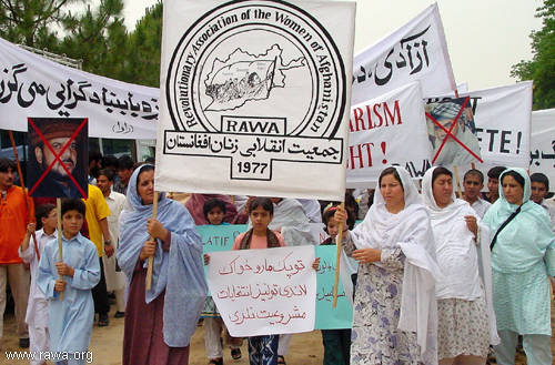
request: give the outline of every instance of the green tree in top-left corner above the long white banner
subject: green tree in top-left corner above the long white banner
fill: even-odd
[[[56,48],[52,29],[70,16],[69,4],[89,0],[0,0],[0,37],[34,48]]]

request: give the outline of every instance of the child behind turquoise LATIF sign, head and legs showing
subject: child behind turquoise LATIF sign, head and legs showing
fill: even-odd
[[[204,203],[203,206],[204,217],[206,222],[212,225],[229,224],[223,222],[225,216],[225,203],[216,197],[210,199]],[[206,348],[206,356],[209,358],[209,365],[222,365],[223,364],[223,353],[222,353],[222,329],[225,329],[225,325],[218,312],[214,300],[211,296],[206,297],[206,303],[202,311],[202,316],[204,320],[204,346]],[[226,329],[225,329],[226,331]],[[233,359],[241,358],[241,344],[242,338],[230,337],[231,357]]]

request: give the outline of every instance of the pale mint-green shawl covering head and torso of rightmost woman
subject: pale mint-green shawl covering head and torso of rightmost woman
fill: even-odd
[[[547,212],[529,200],[531,181],[524,169],[511,168],[500,176],[500,199],[490,206],[484,215],[484,223],[490,226],[492,237],[518,205],[507,202],[503,193],[503,178],[514,171],[524,179],[524,194],[521,212],[508,223],[497,236],[492,251],[492,267],[503,273],[523,273],[544,261],[548,275],[555,275],[553,257],[555,239]]]

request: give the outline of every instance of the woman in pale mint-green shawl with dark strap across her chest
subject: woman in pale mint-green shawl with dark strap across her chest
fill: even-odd
[[[517,336],[523,335],[527,364],[549,365],[552,327],[547,276],[555,275],[555,239],[549,216],[529,200],[531,182],[526,171],[508,169],[500,181],[500,199],[483,220],[494,237],[493,302],[501,337],[501,344],[495,346],[497,364],[515,363]],[[519,212],[502,227],[518,206]]]

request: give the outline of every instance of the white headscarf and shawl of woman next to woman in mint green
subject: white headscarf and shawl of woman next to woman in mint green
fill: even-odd
[[[426,171],[422,179],[422,196],[426,206],[434,232],[434,240],[437,252],[444,250],[437,257],[440,266],[444,268],[446,276],[440,278],[436,283],[436,297],[461,298],[474,301],[485,294],[486,310],[490,318],[490,343],[497,345],[500,337],[497,335],[497,324],[493,308],[492,291],[492,264],[490,257],[490,230],[485,226],[476,212],[464,200],[457,199],[453,190],[451,203],[445,207],[440,207],[435,201],[433,192],[433,174],[437,166]],[[474,234],[468,231],[464,217],[473,215],[476,217],[478,226],[476,249],[474,244]],[[453,244],[455,243],[455,244]],[[451,247],[448,246],[451,245]],[[441,262],[441,260],[445,260]],[[467,262],[467,267],[472,268],[465,272],[458,272],[456,275],[447,275],[450,262]],[[457,264],[454,267],[460,267]],[[478,274],[484,283],[485,293],[480,286]]]

